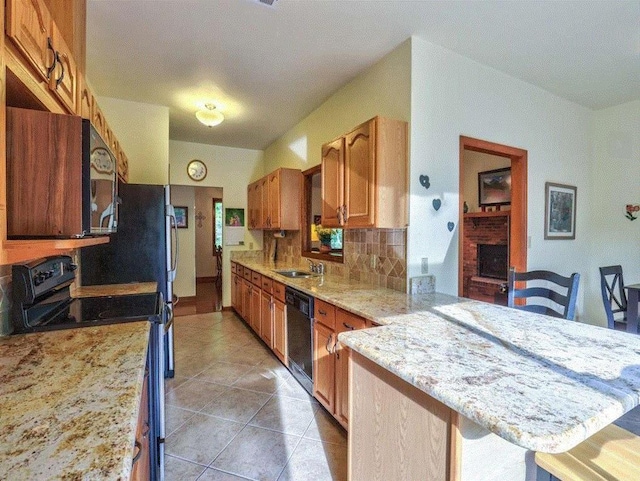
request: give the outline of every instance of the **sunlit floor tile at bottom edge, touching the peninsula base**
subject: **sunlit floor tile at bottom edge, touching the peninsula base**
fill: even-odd
[[[278,481],[346,481],[347,451],[339,444],[302,439]]]

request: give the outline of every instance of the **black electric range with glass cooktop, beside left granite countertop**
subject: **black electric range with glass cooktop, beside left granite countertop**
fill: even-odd
[[[151,322],[149,369],[149,443],[151,479],[164,475],[164,331],[167,311],[161,293],[72,298],[69,286],[76,265],[69,256],[53,256],[12,268],[13,334]],[[73,355],[70,353],[70,355]]]

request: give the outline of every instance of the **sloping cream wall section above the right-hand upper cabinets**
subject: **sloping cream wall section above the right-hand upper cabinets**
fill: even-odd
[[[376,115],[409,121],[410,72],[407,40],[267,147],[265,172],[278,167],[306,170],[320,164],[324,143]]]

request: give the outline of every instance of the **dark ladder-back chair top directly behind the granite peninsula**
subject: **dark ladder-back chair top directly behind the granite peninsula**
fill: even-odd
[[[524,287],[521,283],[525,283]],[[579,283],[580,274],[577,272],[564,277],[551,271],[516,272],[512,267],[507,281],[507,305],[573,320]],[[518,304],[516,299],[525,299],[526,304]]]

